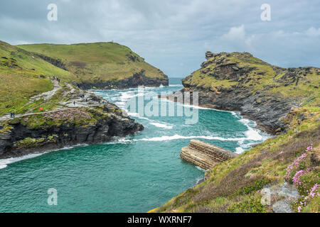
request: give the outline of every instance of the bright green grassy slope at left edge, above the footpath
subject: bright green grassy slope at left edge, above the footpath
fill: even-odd
[[[21,113],[28,98],[53,89],[48,77],[69,77],[70,72],[0,41],[0,116]]]

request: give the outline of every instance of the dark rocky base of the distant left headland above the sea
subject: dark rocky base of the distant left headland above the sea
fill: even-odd
[[[159,73],[161,73],[160,70]],[[166,75],[164,75],[163,79],[146,77],[144,70],[142,70],[141,72],[134,73],[132,77],[119,81],[97,81],[93,83],[82,82],[81,84],[77,85],[81,89],[92,89],[92,87],[96,87],[98,89],[128,89],[139,86],[159,87],[161,85],[168,86],[169,79]]]

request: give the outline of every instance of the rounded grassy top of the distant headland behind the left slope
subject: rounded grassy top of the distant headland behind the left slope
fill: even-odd
[[[156,67],[117,43],[33,44],[18,47],[62,60],[67,69],[77,76],[77,82],[124,79],[142,69],[146,77],[164,78],[164,74]]]

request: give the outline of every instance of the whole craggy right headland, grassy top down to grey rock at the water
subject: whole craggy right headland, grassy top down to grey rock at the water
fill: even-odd
[[[319,86],[315,67],[283,69],[249,53],[206,53],[201,69],[183,79],[184,91],[199,92],[199,104],[241,111],[269,133],[284,131],[281,120]]]

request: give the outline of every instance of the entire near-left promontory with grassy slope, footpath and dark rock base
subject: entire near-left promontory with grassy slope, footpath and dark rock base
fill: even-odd
[[[0,158],[106,142],[143,129],[114,104],[69,84],[75,74],[60,60],[56,67],[43,58],[0,43]]]

